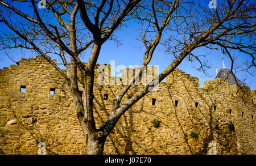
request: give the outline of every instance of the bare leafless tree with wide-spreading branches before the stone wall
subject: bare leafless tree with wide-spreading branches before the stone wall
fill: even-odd
[[[198,69],[205,71],[208,66],[201,57],[206,55],[195,55],[193,50],[202,47],[222,48],[225,53],[239,50],[251,58],[251,62],[246,63],[247,70],[255,67],[255,2],[249,0],[218,1],[216,8],[209,8],[208,1],[182,0],[43,2],[0,1],[0,22],[12,32],[1,34],[1,49],[34,50],[63,75],[73,95],[77,118],[85,135],[87,154],[102,154],[106,137],[119,118],[150,92],[152,85],[155,86],[172,73],[183,59],[198,61]],[[45,9],[39,10],[38,3],[43,4]],[[20,4],[26,8],[19,8]],[[101,46],[108,40],[117,41],[113,32],[125,25],[128,19],[136,19],[141,23],[138,32],[144,45],[143,63],[139,67],[140,72],[117,93],[108,120],[97,129],[93,117],[94,68]],[[158,45],[163,45],[174,60],[121,105],[123,96],[134,86]],[[82,63],[80,56],[86,50],[90,50],[89,60]],[[50,53],[60,56],[67,74],[51,61],[47,56]],[[232,56],[229,57],[232,59]],[[83,100],[77,83],[78,68],[85,74]]]

